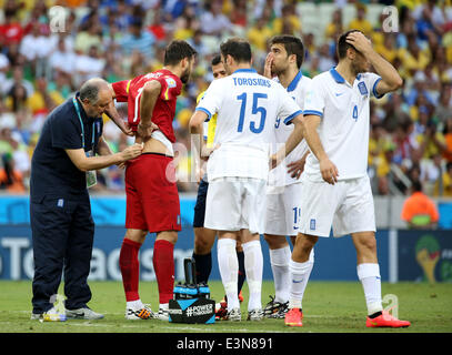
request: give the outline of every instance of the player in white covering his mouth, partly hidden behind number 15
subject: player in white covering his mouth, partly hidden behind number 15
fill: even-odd
[[[264,75],[278,80],[291,98],[303,109],[304,94],[311,79],[303,77],[300,68],[303,63],[304,47],[293,36],[275,36],[270,40],[270,53],[267,57]],[[278,118],[274,122],[274,146],[285,143],[293,125],[287,125]],[[300,217],[301,181],[308,153],[303,140],[278,168],[270,171],[265,195],[264,239],[269,245],[270,264],[274,281],[274,297],[264,308],[264,315],[271,318],[284,318],[289,305],[291,250],[287,236],[298,233]],[[288,170],[289,166],[289,170]],[[293,168],[293,171],[291,170]],[[313,265],[312,250],[310,258]]]

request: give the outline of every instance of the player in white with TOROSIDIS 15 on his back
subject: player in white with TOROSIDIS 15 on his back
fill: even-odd
[[[248,320],[260,321],[263,257],[259,234],[263,227],[269,145],[277,116],[285,124],[294,124],[285,146],[270,160],[274,166],[302,140],[302,114],[281,84],[251,68],[249,42],[230,39],[220,45],[220,52],[229,75],[209,85],[190,119],[190,130],[202,134],[202,122],[218,113],[213,144],[219,148],[208,161],[204,226],[218,231],[218,262],[228,296],[228,318],[241,321],[235,253],[240,239],[250,290]]]

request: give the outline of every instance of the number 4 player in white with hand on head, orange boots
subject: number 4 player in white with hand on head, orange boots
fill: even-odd
[[[304,101],[303,133],[312,154],[302,175],[300,233],[290,263],[285,324],[302,326],[309,253],[319,240],[351,234],[368,307],[368,327],[403,327],[382,307],[375,216],[368,168],[370,99],[402,87],[396,70],[356,30],[338,40],[339,63],[312,79]],[[372,65],[376,72],[369,72]]]

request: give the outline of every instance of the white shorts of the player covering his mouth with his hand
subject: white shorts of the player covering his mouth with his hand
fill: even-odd
[[[300,223],[301,183],[268,186],[265,195],[265,234],[297,235]]]

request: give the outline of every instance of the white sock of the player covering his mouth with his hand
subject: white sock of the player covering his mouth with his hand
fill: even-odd
[[[273,272],[275,302],[285,303],[289,301],[291,281],[289,263],[291,255],[292,252],[290,251],[289,245],[281,248],[270,250],[270,264]]]

